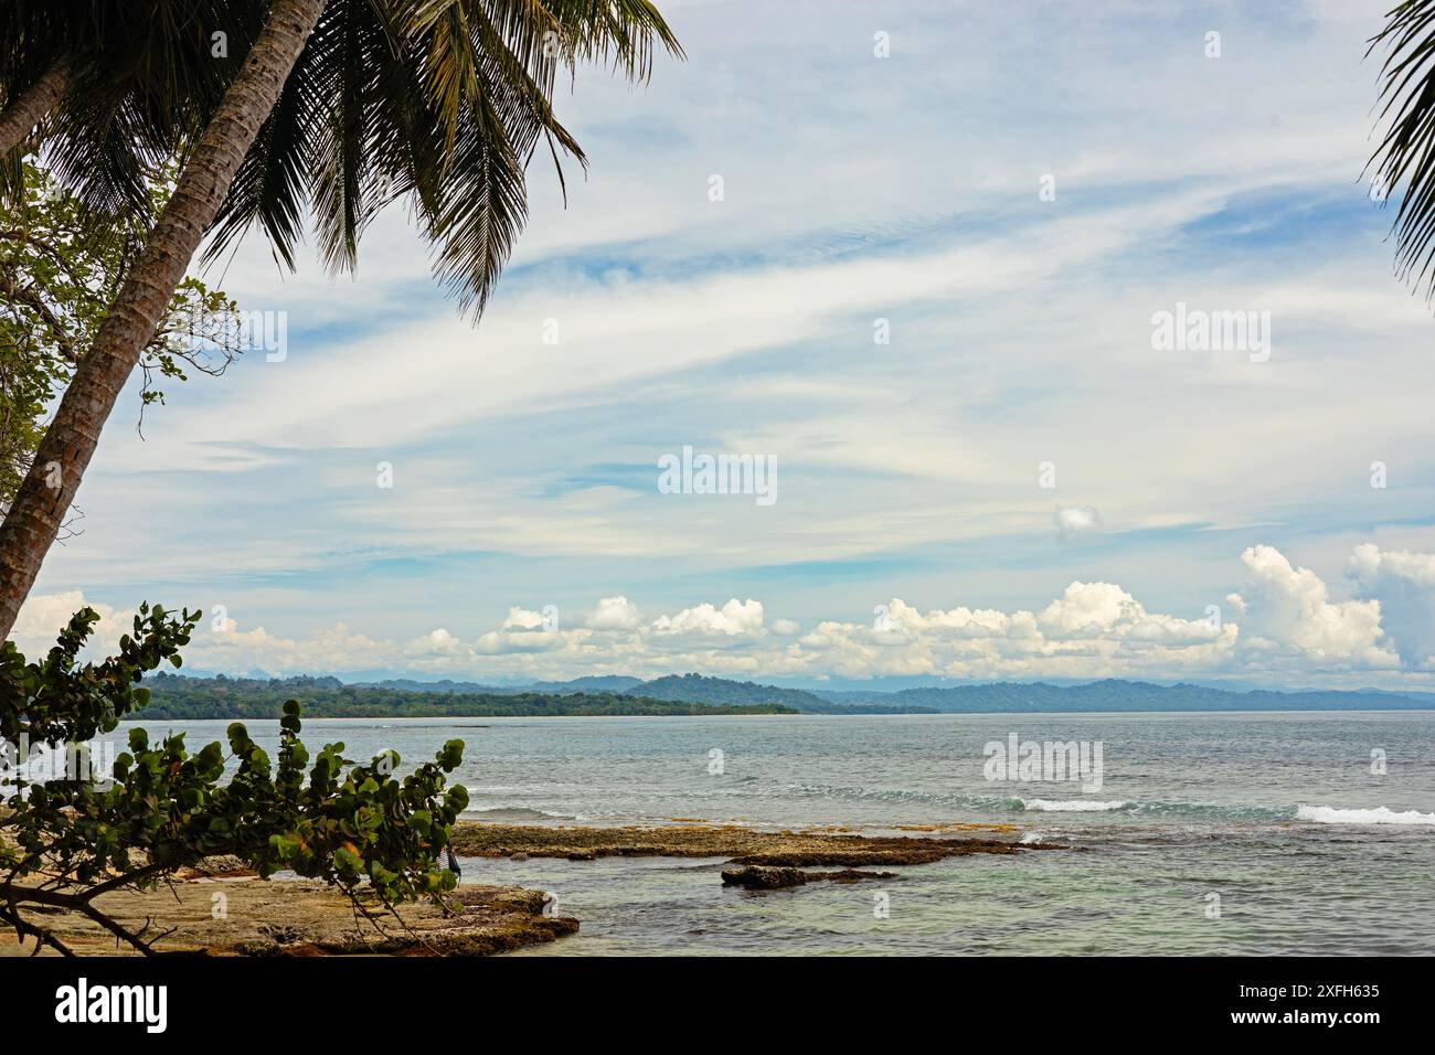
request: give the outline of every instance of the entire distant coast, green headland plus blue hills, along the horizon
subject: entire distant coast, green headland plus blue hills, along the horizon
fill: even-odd
[[[1435,696],[1362,690],[1231,692],[1200,685],[1101,680],[1086,685],[999,682],[898,692],[782,689],[702,675],[580,677],[505,688],[469,682],[336,677],[192,677],[145,680],[141,719],[278,718],[298,699],[310,718],[600,718],[937,713],[1201,713],[1296,711],[1435,711]]]

